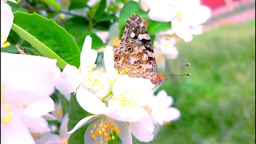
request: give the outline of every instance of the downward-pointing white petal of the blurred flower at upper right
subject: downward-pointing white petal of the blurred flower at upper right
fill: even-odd
[[[193,35],[191,35],[187,23],[174,19],[172,21],[172,29],[174,33],[182,38],[186,43],[192,41]]]

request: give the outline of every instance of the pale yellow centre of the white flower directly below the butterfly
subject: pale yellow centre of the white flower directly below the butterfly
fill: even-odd
[[[120,106],[128,109],[135,109],[139,106],[137,102],[137,94],[134,91],[124,91],[119,93],[117,97],[114,95],[112,98],[119,101]]]

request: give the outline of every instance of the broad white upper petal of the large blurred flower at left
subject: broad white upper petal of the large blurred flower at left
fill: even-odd
[[[1,84],[8,100],[30,102],[49,97],[60,79],[56,62],[40,56],[1,52]]]

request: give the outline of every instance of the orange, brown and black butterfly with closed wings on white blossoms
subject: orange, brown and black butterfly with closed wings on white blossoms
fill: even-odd
[[[135,14],[126,21],[121,43],[113,47],[115,69],[130,77],[148,78],[155,87],[166,78],[157,74],[156,60],[145,23]]]

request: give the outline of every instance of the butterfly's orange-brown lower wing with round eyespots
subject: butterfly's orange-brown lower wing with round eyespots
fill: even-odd
[[[114,46],[115,68],[118,71],[129,69],[127,75],[131,77],[148,78],[154,82],[152,73],[154,67],[150,62],[145,46],[137,39],[126,39]]]

